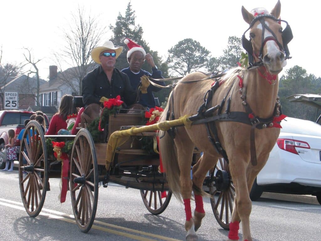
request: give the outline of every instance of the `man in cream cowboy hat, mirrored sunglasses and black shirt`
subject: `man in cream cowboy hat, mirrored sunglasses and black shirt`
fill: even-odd
[[[109,99],[120,95],[127,105],[136,101],[137,94],[128,76],[114,67],[122,51],[123,47],[116,48],[111,41],[91,50],[91,58],[100,66],[82,80],[82,100],[85,106],[99,104],[103,96]]]

